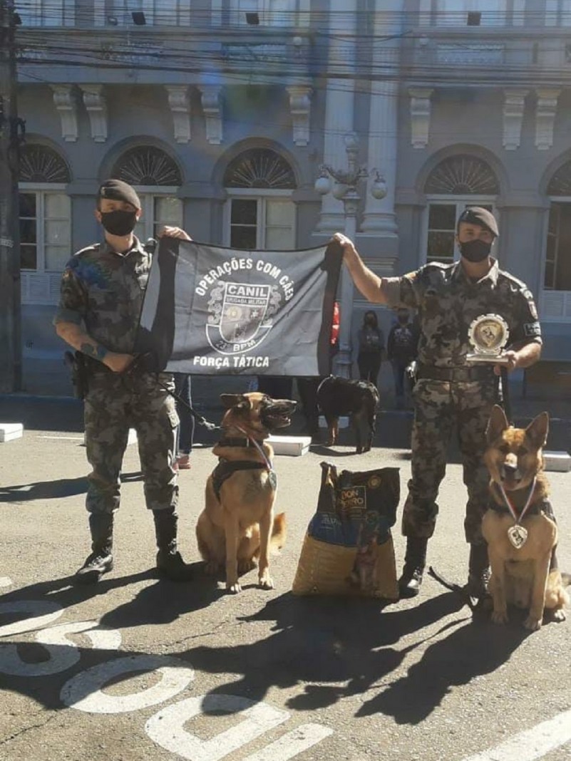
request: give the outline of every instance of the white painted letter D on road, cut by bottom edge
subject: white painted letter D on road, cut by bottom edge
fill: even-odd
[[[244,719],[209,740],[202,740],[184,728],[195,716],[219,711],[243,713]],[[235,695],[201,695],[163,708],[147,721],[145,731],[164,750],[187,761],[219,761],[288,718],[287,711],[263,702]]]

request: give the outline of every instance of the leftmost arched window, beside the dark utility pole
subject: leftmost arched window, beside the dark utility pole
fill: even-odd
[[[59,274],[71,256],[69,167],[46,145],[24,145],[20,154],[20,266],[23,304],[54,304]],[[53,274],[50,274],[53,273]]]

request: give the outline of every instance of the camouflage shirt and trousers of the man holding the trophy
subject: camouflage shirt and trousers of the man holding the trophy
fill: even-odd
[[[456,425],[468,501],[464,532],[479,544],[488,502],[489,476],[483,464],[486,425],[497,400],[493,365],[467,365],[468,328],[476,317],[499,314],[509,341],[540,342],[541,329],[531,291],[498,263],[472,282],[461,263],[431,263],[388,279],[388,304],[418,310],[419,380],[413,390],[412,477],[404,505],[406,537],[432,536],[439,508],[436,498],[445,475],[446,451]]]

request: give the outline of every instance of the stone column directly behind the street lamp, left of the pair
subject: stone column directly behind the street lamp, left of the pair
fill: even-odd
[[[331,0],[329,11],[329,60],[325,103],[324,164],[336,169],[346,168],[343,138],[353,132],[355,82],[350,78],[356,56],[356,0]],[[336,78],[336,74],[345,75]],[[349,76],[348,76],[349,75]],[[323,196],[317,230],[328,234],[343,230],[343,202],[331,193]]]

